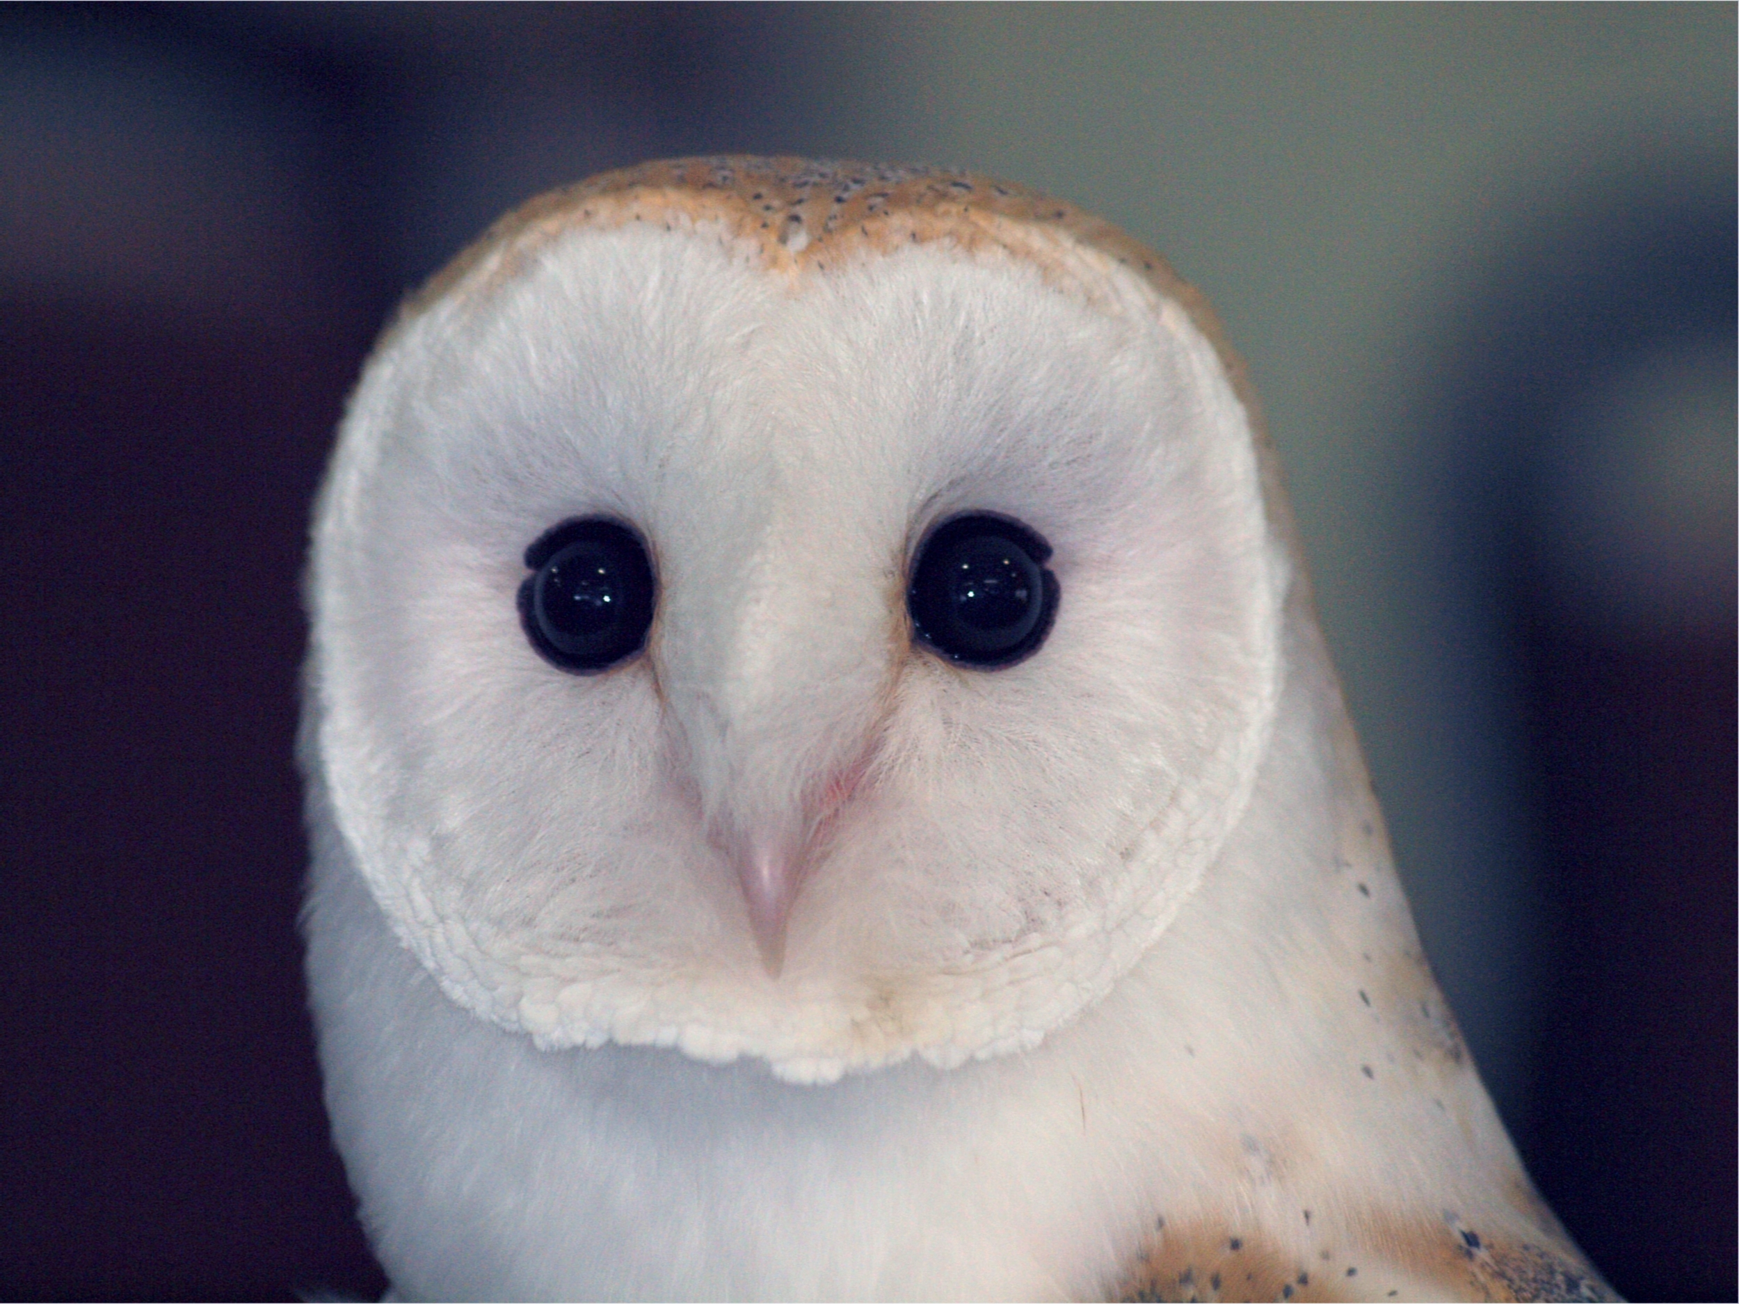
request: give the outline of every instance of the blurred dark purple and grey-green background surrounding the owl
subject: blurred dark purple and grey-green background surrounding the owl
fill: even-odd
[[[384,1281],[290,763],[369,341],[659,155],[960,163],[1216,301],[1546,1198],[1736,1297],[1734,7],[0,9],[0,1295]]]

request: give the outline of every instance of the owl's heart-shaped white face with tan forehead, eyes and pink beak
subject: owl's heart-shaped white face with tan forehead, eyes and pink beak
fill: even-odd
[[[316,523],[311,770],[398,935],[543,1045],[1028,1047],[1266,746],[1250,421],[1024,196],[793,240],[765,167],[546,205],[390,334]]]

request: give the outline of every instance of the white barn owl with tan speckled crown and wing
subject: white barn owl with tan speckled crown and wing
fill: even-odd
[[[1598,1299],[1202,297],[979,176],[503,219],[320,496],[308,972],[402,1297]]]

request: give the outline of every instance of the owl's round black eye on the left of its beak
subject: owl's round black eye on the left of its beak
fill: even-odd
[[[652,563],[626,525],[570,520],[525,549],[525,636],[550,662],[595,675],[631,657],[652,626]]]

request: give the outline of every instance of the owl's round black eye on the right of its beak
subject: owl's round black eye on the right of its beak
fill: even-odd
[[[1010,666],[1045,642],[1057,614],[1050,544],[983,511],[937,525],[918,548],[906,607],[918,642],[967,666]]]

